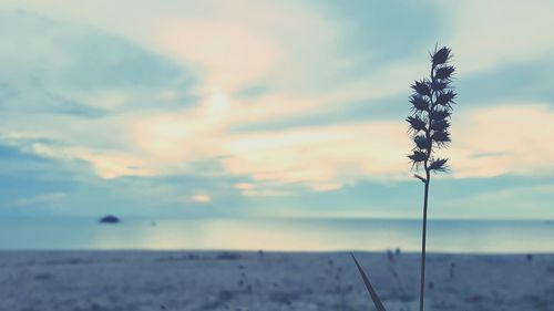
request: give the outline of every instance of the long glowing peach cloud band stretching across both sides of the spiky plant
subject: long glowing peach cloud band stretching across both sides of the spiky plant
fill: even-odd
[[[133,153],[65,147],[57,154],[40,144],[33,145],[33,152],[86,160],[104,178],[171,172],[202,175],[195,164],[213,159],[222,164],[219,174],[247,176],[255,182],[250,189],[240,189],[245,195],[286,193],[276,188],[278,185],[325,191],[367,178],[409,177],[404,155],[411,144],[402,121],[233,132],[229,128],[237,122],[237,114],[228,113],[232,110],[234,103],[215,91],[203,105],[181,114],[133,120],[134,138],[127,142]],[[544,143],[554,136],[550,105],[504,102],[460,113],[453,121],[452,148],[439,152],[450,157],[453,177],[552,173],[554,149]]]

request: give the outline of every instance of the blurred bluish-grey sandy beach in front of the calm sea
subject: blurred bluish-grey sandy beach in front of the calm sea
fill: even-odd
[[[419,255],[356,252],[388,311]],[[554,255],[428,255],[425,310],[554,310]],[[0,310],[373,310],[348,252],[1,251]]]

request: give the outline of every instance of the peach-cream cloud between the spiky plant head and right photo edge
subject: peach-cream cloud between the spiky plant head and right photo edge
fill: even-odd
[[[448,153],[456,177],[554,173],[554,147],[548,143],[554,111],[547,104],[504,103],[455,118]]]

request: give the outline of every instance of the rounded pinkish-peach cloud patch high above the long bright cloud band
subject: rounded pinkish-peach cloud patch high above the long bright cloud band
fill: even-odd
[[[157,44],[205,71],[207,85],[237,90],[263,79],[280,58],[279,48],[252,28],[189,20],[158,27]]]

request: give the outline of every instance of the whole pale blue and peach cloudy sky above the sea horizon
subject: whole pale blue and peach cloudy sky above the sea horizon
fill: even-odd
[[[430,218],[554,218],[553,1],[0,0],[0,216],[421,215],[410,84],[452,48]]]

